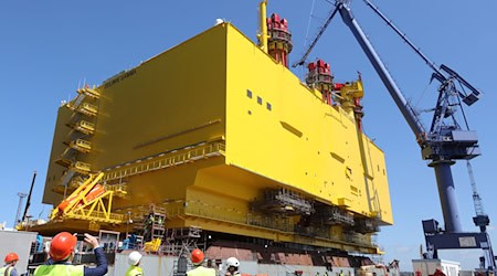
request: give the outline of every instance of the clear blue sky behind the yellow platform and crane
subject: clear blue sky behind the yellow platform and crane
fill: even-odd
[[[269,0],[268,12],[288,19],[294,52],[305,51],[306,33],[313,36],[330,6],[316,0]],[[473,167],[490,220],[497,217],[495,189],[497,103],[497,2],[483,0],[419,0],[376,3],[437,64],[445,63],[485,93],[466,108],[469,125],[478,131],[483,156]],[[420,108],[434,105],[431,72],[362,1],[352,8],[406,98]],[[309,22],[309,15],[313,14]],[[255,40],[257,1],[2,1],[0,3],[0,221],[12,225],[19,191],[29,191],[32,172],[39,171],[31,214],[46,217],[51,206],[41,198],[46,174],[57,106],[75,96],[78,83],[101,84],[112,75],[138,65],[181,41],[225,19]],[[308,31],[307,31],[308,30]],[[443,222],[432,169],[421,160],[413,135],[349,30],[337,17],[310,55],[331,64],[337,81],[362,73],[366,96],[366,132],[383,149],[390,181],[394,225],[383,227],[378,242],[385,262],[401,261],[411,270],[424,244],[421,220]],[[302,76],[303,71],[294,71]],[[427,89],[426,89],[427,87]],[[424,95],[422,97],[422,95]],[[419,103],[419,105],[417,105]],[[429,124],[426,118],[425,124]],[[465,164],[453,167],[464,229],[473,226],[472,191]],[[489,229],[497,244],[495,227]],[[480,251],[441,252],[476,267]]]

